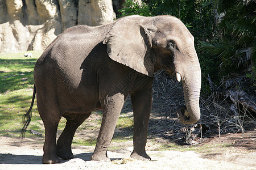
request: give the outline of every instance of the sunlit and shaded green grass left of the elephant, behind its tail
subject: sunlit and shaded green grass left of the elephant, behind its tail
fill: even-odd
[[[23,57],[24,53],[0,54],[0,135],[19,136],[22,115],[30,107],[34,65],[42,51],[32,51],[33,58]],[[32,112],[30,128],[42,133],[36,102]]]

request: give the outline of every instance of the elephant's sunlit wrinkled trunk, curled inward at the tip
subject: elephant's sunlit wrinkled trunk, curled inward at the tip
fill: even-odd
[[[199,61],[187,63],[183,73],[185,106],[177,108],[177,116],[182,124],[193,124],[200,119],[199,97],[201,89],[201,69]]]

